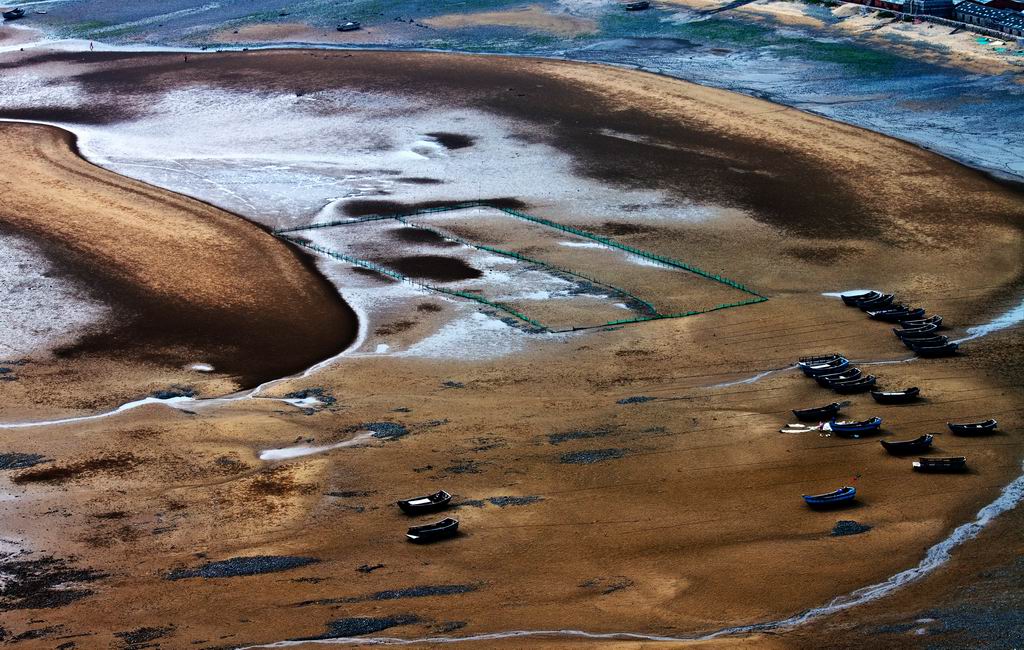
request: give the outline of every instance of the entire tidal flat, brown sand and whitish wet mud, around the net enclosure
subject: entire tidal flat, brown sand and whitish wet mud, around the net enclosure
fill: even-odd
[[[922,387],[920,403],[857,395],[846,406],[851,418],[882,417],[885,435],[901,439],[997,418],[997,435],[936,436],[943,453],[970,457],[961,475],[916,474],[873,437],[779,433],[792,408],[831,400],[794,372],[735,383],[826,349],[871,362],[906,357],[889,326],[822,293],[895,292],[940,312],[956,338],[1020,304],[1024,200],[948,159],[763,100],[563,61],[309,50],[6,56],[23,76],[0,117],[34,111],[106,169],[76,157],[60,131],[3,127],[23,179],[4,186],[17,207],[5,222],[34,228],[33,254],[51,264],[63,254],[46,243],[76,251],[82,265],[67,270],[68,286],[119,273],[146,298],[173,297],[173,311],[160,312],[174,316],[167,337],[195,328],[207,338],[168,339],[171,351],[133,365],[137,348],[94,336],[123,322],[120,294],[99,293],[97,313],[114,315],[96,316],[89,327],[98,330],[83,335],[99,343],[80,355],[46,346],[27,355],[16,381],[0,385],[5,418],[96,411],[129,388],[136,398],[230,395],[264,377],[246,365],[263,357],[241,346],[269,344],[237,336],[244,327],[281,341],[333,341],[314,359],[311,348],[272,347],[288,361],[282,375],[346,349],[264,389],[301,403],[153,404],[31,435],[0,431],[5,453],[34,460],[0,470],[11,495],[0,507],[14,522],[5,544],[51,558],[44,586],[75,595],[46,609],[2,601],[13,635],[56,644],[74,636],[82,647],[379,635],[514,647],[519,632],[563,630],[598,635],[580,643],[723,629],[740,634],[730,644],[820,641],[839,633],[812,625],[768,637],[743,626],[915,566],[1020,474],[1014,327],[965,341],[956,357],[871,366],[886,387]],[[54,88],[68,95],[59,103]],[[879,160],[900,172],[879,175]],[[61,197],[53,187],[69,197],[57,207],[112,209],[89,219],[57,211],[48,222],[41,192]],[[462,293],[518,300],[523,310],[534,292],[557,294],[569,280],[537,268],[513,274],[488,259],[496,253],[462,242],[616,287],[639,278],[622,288],[655,305],[666,297],[668,280],[644,275],[662,269],[634,264],[631,274],[625,256],[574,234],[586,231],[738,280],[767,301],[537,331],[471,298],[273,234],[457,202],[492,202],[572,230],[542,236],[492,206],[370,225],[369,235],[344,234],[362,227],[352,225],[301,232],[319,248],[440,289],[464,283]],[[162,215],[160,228],[136,232],[144,215],[126,217],[106,226],[120,234],[115,246],[90,244],[85,234],[119,206],[152,206],[144,212]],[[165,228],[180,231],[184,251],[160,236]],[[985,256],[972,254],[978,241]],[[151,264],[173,268],[174,281]],[[686,276],[671,299],[702,304],[706,280]],[[581,305],[559,311],[574,317],[611,300],[565,290],[548,302]],[[564,309],[542,308],[555,307]],[[227,331],[202,326],[219,310],[241,320]],[[275,314],[273,328],[257,328]],[[99,385],[95,374],[68,370],[95,358],[109,363]],[[800,500],[849,483],[860,499],[843,512]],[[461,534],[408,544],[406,528],[425,518],[407,518],[394,502],[439,488],[453,494]],[[840,521],[864,529],[833,534]],[[988,548],[984,533],[967,544]],[[20,561],[12,555],[4,571]],[[900,611],[924,607],[922,594],[943,576],[899,592]]]

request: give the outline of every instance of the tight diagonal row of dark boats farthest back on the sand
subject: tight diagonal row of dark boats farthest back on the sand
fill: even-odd
[[[927,311],[923,307],[897,303],[893,294],[866,291],[843,294],[841,298],[847,306],[860,308],[874,320],[899,324],[893,333],[918,356],[951,356],[959,348],[958,343],[938,334],[942,316],[933,314],[926,317]]]

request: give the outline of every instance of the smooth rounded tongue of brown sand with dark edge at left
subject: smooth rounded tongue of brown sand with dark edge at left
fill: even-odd
[[[246,387],[304,370],[354,337],[334,288],[259,227],[86,163],[57,129],[4,124],[0,143],[3,226],[115,309],[59,351],[61,372],[144,362],[166,375],[205,361]]]

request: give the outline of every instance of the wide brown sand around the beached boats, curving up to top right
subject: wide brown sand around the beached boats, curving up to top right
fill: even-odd
[[[783,617],[915,563],[1019,472],[1016,332],[973,342],[957,358],[873,366],[887,387],[918,385],[927,400],[878,406],[857,396],[846,409],[882,416],[897,438],[940,432],[947,420],[998,418],[997,436],[938,436],[942,453],[970,457],[972,471],[962,476],[914,474],[873,438],[778,433],[790,408],[834,397],[796,374],[703,387],[822,349],[860,359],[906,354],[887,327],[820,291],[885,286],[954,327],[1019,302],[1024,203],[981,174],[820,118],[614,69],[365,52],[198,59],[195,83],[372,84],[526,120],[536,137],[570,151],[581,174],[666,188],[680,202],[725,202],[732,216],[707,222],[636,228],[624,216],[588,226],[727,272],[771,300],[539,342],[494,362],[352,357],[278,389],[318,385],[339,398],[312,416],[249,401],[200,415],[140,409],[75,427],[74,435],[59,427],[31,438],[5,433],[8,448],[54,459],[58,471],[44,476],[59,477],[26,482],[31,470],[11,474],[16,482],[6,488],[19,499],[2,502],[11,534],[37,553],[110,574],[91,584],[95,595],[62,607],[7,612],[3,625],[13,633],[59,624],[47,641],[87,634],[105,646],[119,632],[166,629],[170,646],[216,647],[306,638],[331,620],[374,616],[403,616],[382,634],[404,637],[703,632]],[[100,96],[122,84],[191,83],[180,81],[177,66],[142,55],[69,71]],[[641,137],[602,137],[601,129]],[[872,174],[878,160],[899,173]],[[586,223],[571,205],[545,208]],[[977,241],[988,246],[984,258],[969,254]],[[828,257],[834,247],[839,262]],[[638,395],[656,399],[616,403]],[[344,440],[381,422],[409,433],[294,461],[257,458],[297,440]],[[119,456],[126,450],[130,459]],[[124,462],[111,463],[118,458]],[[800,500],[847,483],[861,493],[850,510],[811,512]],[[434,547],[407,544],[411,520],[393,501],[441,487],[461,504],[453,514],[464,534]],[[506,496],[539,499],[496,499]],[[829,536],[839,519],[873,528]],[[211,560],[286,554],[319,563],[163,579]],[[437,586],[457,589],[400,591]],[[524,645],[593,644],[476,647]]]

